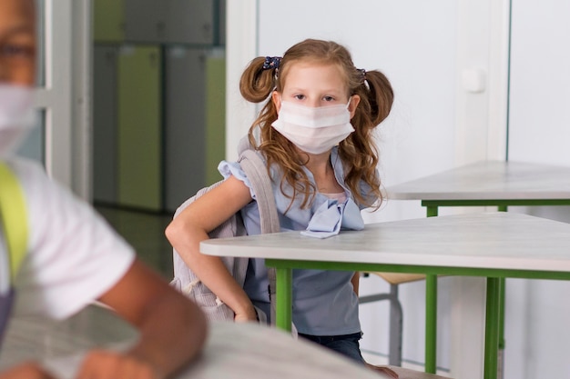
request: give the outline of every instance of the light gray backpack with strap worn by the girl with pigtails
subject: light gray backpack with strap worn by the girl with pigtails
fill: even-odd
[[[244,146],[244,143],[240,143]],[[245,147],[245,146],[244,146]],[[248,146],[249,147],[249,146]],[[255,151],[249,148],[240,148],[239,164],[249,178],[249,182],[256,194],[256,200],[260,209],[261,234],[280,232],[279,216],[275,206],[275,198],[273,196],[273,188],[271,179],[267,173],[267,167],[263,160]],[[202,188],[197,194],[190,197],[186,202],[181,204],[174,217],[176,217],[188,204],[192,203],[202,194],[207,193],[212,188],[218,186],[222,181]],[[210,238],[226,238],[238,235],[246,235],[245,226],[239,213],[232,215],[226,222],[220,224],[216,229],[209,233]],[[184,263],[176,249],[173,249],[172,259],[174,263],[174,279],[170,283],[178,289],[182,294],[187,295],[204,311],[209,320],[227,320],[233,321],[234,313],[228,305],[223,304],[216,294],[213,294],[209,288],[202,284],[198,276],[194,274],[188,265]],[[243,287],[246,271],[248,269],[248,258],[222,257],[229,273],[232,274],[236,282]],[[270,299],[271,299],[271,320],[275,322],[275,269],[269,269],[270,279]],[[260,322],[265,321],[264,314],[260,314],[258,310]]]

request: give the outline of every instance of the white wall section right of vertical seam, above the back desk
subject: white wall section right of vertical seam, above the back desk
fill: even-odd
[[[570,3],[514,0],[509,158],[570,165]]]

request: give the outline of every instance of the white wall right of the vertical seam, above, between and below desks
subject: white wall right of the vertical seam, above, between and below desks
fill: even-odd
[[[570,165],[570,3],[513,0],[509,160]],[[516,208],[570,222],[569,207]],[[513,378],[570,377],[570,283],[507,281]]]

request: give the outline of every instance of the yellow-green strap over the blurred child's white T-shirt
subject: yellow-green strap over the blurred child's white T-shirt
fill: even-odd
[[[0,217],[14,282],[27,250],[27,210],[22,187],[4,162],[0,163]]]

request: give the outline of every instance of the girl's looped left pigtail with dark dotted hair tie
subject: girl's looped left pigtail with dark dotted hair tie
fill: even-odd
[[[251,103],[261,103],[275,89],[280,57],[258,56],[249,62],[239,79],[239,92]]]

